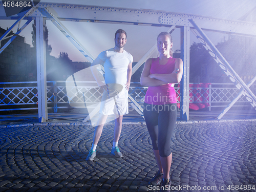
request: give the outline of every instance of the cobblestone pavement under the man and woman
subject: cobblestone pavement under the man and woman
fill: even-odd
[[[256,121],[179,123],[172,139],[173,191],[255,191]],[[91,125],[1,127],[0,191],[148,191],[157,172],[146,126],[123,125],[111,156],[114,125],[105,125],[87,162]],[[248,188],[251,188],[248,190]]]

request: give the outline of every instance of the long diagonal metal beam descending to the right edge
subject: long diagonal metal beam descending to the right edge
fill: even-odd
[[[188,19],[189,22],[194,26],[196,30],[191,30],[196,35],[196,37],[200,40],[200,42],[204,45],[204,47],[209,51],[210,55],[214,57],[217,63],[219,63],[220,67],[224,72],[229,76],[230,80],[236,85],[238,89],[243,88],[248,94],[248,99],[252,105],[256,105],[256,96],[252,93],[252,91],[247,87],[244,81],[239,77],[239,75],[233,70],[233,68],[229,65],[227,60],[222,56],[219,50],[215,47],[214,44],[209,40],[203,30],[194,22],[193,19]]]

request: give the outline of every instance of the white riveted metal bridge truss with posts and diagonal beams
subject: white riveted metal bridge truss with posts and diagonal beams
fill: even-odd
[[[31,22],[36,20],[36,50],[37,50],[37,86],[38,86],[38,117],[39,122],[48,120],[47,112],[47,87],[46,87],[46,54],[43,34],[45,30],[46,19],[52,23],[72,42],[72,44],[90,61],[94,58],[90,52],[82,46],[78,39],[61,23],[61,21],[73,22],[93,22],[93,23],[111,23],[111,24],[128,24],[128,25],[146,25],[166,27],[166,31],[172,33],[175,28],[181,29],[181,59],[184,63],[184,73],[181,80],[181,110],[180,119],[188,120],[189,115],[189,47],[190,47],[190,30],[196,35],[199,41],[204,45],[209,54],[214,57],[221,69],[229,76],[231,81],[241,92],[226,109],[219,115],[219,119],[231,108],[241,95],[245,95],[251,105],[256,108],[256,96],[251,92],[249,87],[255,81],[254,77],[247,85],[232,69],[226,59],[221,55],[217,48],[212,44],[204,31],[214,31],[227,34],[241,35],[247,37],[256,37],[256,24],[242,22],[238,20],[225,20],[198,15],[189,15],[183,13],[171,13],[157,10],[144,9],[124,9],[114,7],[95,7],[70,4],[49,4],[39,3],[30,10],[21,14],[6,17],[4,14],[3,4],[0,4],[0,19],[16,19],[16,22],[0,38],[0,41],[10,38],[0,53],[11,43],[11,41]],[[19,27],[20,21],[26,19],[27,22],[23,27]],[[8,36],[14,27],[17,32],[13,36]],[[218,26],[218,27],[217,27]],[[147,58],[156,50],[154,45],[133,67],[133,74],[146,61]],[[103,70],[103,68],[101,67]],[[129,95],[132,106],[142,115],[140,105]]]

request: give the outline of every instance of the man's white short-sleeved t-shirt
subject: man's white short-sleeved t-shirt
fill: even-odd
[[[129,63],[133,62],[133,56],[127,51],[118,53],[112,48],[102,51],[98,57],[104,61],[105,83],[117,83],[125,88],[127,69]]]

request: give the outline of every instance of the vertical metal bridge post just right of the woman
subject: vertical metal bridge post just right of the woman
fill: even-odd
[[[183,60],[183,76],[180,83],[180,119],[189,120],[189,47],[190,28],[181,28],[181,59]]]

